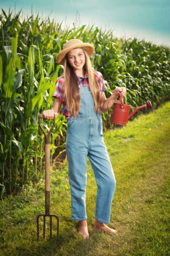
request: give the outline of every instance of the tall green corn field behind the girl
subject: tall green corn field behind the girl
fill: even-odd
[[[55,82],[63,74],[56,56],[66,40],[78,38],[95,46],[91,58],[103,74],[106,96],[116,86],[127,89],[126,103],[137,107],[169,98],[169,48],[136,38],[118,39],[113,31],[93,25],[63,27],[62,22],[37,16],[23,18],[2,9],[0,21],[0,183],[1,196],[38,178],[43,171],[44,135],[38,114],[51,108]],[[103,114],[108,125],[110,113]],[[42,122],[46,131],[52,121]],[[66,120],[56,119],[51,156],[63,146]]]

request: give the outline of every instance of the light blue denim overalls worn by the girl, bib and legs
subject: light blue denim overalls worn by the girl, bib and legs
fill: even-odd
[[[86,186],[87,156],[98,186],[95,219],[108,224],[116,180],[103,138],[102,118],[95,112],[89,87],[80,88],[80,109],[77,118],[67,123],[66,153],[71,190],[71,219],[87,220]]]

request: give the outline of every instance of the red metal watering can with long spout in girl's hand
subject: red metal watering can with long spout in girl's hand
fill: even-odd
[[[111,102],[111,101],[110,101]],[[109,104],[109,103],[108,103]],[[119,103],[114,102],[112,115],[110,118],[111,123],[115,124],[121,124],[126,125],[127,121],[140,109],[144,108],[152,108],[152,105],[149,100],[147,100],[146,104],[143,106],[140,106],[138,108],[132,108],[135,109],[130,115],[130,108],[132,108],[130,105],[124,104],[123,100],[123,92],[120,92],[119,96]]]

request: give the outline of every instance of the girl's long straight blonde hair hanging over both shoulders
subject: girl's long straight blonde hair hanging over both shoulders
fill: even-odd
[[[93,72],[92,62],[90,61],[89,55],[87,54],[86,50],[82,50],[85,55],[84,68],[89,79],[89,87],[94,99],[95,111],[96,113],[100,113],[99,81]],[[64,87],[67,108],[72,116],[77,117],[80,108],[80,92],[76,74],[67,60],[67,55],[64,59]]]

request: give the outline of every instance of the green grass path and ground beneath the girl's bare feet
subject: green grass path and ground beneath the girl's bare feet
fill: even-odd
[[[68,165],[51,174],[51,214],[59,216],[59,247],[56,220],[49,223],[46,239],[36,240],[36,217],[45,213],[44,180],[25,185],[21,192],[0,204],[1,255],[169,255],[169,126],[170,102],[139,116],[126,127],[105,131],[105,142],[117,187],[110,227],[119,235],[93,230],[97,186],[88,161],[87,214],[90,239],[77,233],[71,221]]]

